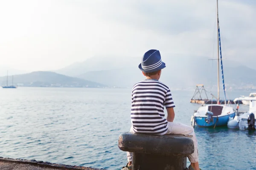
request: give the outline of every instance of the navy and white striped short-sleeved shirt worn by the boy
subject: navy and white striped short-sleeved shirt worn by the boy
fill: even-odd
[[[164,135],[164,106],[175,107],[170,89],[156,79],[138,82],[132,88],[131,122],[136,133]]]

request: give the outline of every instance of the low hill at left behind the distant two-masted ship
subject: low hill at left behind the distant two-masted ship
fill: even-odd
[[[88,81],[76,77],[69,77],[50,71],[36,71],[28,74],[13,76],[14,85],[34,87],[106,87],[101,83]],[[12,77],[9,77],[9,85]],[[6,77],[0,77],[0,85],[6,85]]]

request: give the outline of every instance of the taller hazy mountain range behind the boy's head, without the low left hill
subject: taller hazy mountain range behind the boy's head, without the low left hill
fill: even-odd
[[[56,72],[71,74],[81,79],[99,82],[109,86],[131,87],[144,79],[138,69],[141,57],[105,57],[91,58],[81,63],[70,65]],[[166,68],[160,81],[175,89],[195,88],[204,84],[208,89],[217,89],[217,61],[207,57],[186,57],[170,55],[162,57]],[[224,59],[224,80],[227,89],[255,88],[256,70],[240,63]],[[222,83],[220,70],[220,85]],[[222,85],[221,85],[222,86]]]

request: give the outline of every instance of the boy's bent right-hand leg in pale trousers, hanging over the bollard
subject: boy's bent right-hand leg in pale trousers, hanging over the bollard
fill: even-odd
[[[189,161],[191,163],[197,163],[198,160],[198,143],[197,143],[197,139],[195,138],[195,132],[193,127],[187,126],[187,125],[183,125],[179,122],[168,122],[167,124],[168,126],[168,130],[166,134],[182,134],[185,136],[191,135],[192,136],[192,140],[194,142],[194,153],[192,153],[191,155],[188,156]]]

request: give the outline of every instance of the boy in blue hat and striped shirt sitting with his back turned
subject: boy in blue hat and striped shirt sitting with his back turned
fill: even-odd
[[[175,117],[174,102],[169,88],[159,82],[161,70],[166,65],[161,60],[158,50],[149,50],[142,57],[140,70],[146,77],[132,88],[131,130],[134,133],[155,135],[182,134],[192,135],[195,152],[188,156],[191,164],[189,170],[200,170],[198,164],[197,140],[194,129],[190,126],[173,122]],[[167,110],[167,119],[164,118],[164,106]],[[128,164],[122,170],[131,170],[132,153],[127,152]]]

